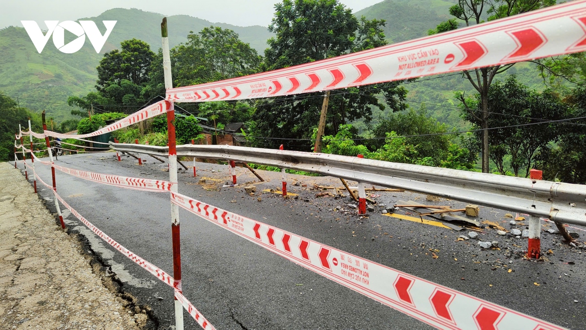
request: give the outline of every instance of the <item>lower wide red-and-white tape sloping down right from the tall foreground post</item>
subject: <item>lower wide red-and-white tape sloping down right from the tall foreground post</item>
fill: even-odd
[[[308,270],[438,329],[563,329],[178,193],[171,202]]]

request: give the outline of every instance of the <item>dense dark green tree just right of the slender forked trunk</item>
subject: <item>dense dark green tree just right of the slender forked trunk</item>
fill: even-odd
[[[480,97],[476,97],[475,111],[481,112]],[[477,116],[468,109],[464,109],[462,116],[473,123],[474,127],[481,127]],[[495,162],[498,171],[506,174],[505,156],[510,155],[510,167],[515,176],[519,176],[524,169],[524,176],[529,176],[529,170],[534,166],[536,156],[540,150],[552,142],[556,142],[566,125],[563,123],[544,123],[547,120],[559,120],[567,117],[568,107],[561,102],[556,93],[546,90],[542,93],[527,89],[517,82],[515,76],[510,76],[504,83],[496,82],[488,93],[488,107],[491,116],[489,126],[498,129],[488,131],[490,139],[490,159]],[[520,126],[524,124],[532,124]]]

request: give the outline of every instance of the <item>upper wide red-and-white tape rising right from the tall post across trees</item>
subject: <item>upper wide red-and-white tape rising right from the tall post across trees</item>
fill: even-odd
[[[586,1],[256,75],[166,90],[174,102],[319,92],[586,50]]]

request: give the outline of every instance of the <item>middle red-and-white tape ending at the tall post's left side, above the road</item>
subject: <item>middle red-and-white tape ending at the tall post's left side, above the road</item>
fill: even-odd
[[[63,173],[69,174],[80,179],[94,181],[97,183],[107,184],[108,186],[115,186],[121,188],[128,188],[132,190],[152,191],[155,193],[165,193],[171,191],[173,183],[163,180],[141,179],[137,177],[123,177],[114,174],[102,174],[89,171],[81,171],[70,169],[53,164],[53,167]]]

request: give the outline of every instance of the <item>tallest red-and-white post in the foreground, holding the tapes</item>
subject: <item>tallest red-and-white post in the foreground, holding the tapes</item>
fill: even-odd
[[[167,18],[161,22],[161,38],[163,43],[163,75],[165,76],[165,89],[173,88],[171,77],[171,56],[169,56],[169,36],[167,33]],[[171,181],[171,193],[177,193],[177,150],[175,142],[175,108],[173,103],[166,101],[167,108],[167,134],[169,137],[169,181]],[[179,206],[171,203],[171,237],[173,240],[173,287],[181,289],[181,244],[179,240]],[[183,306],[175,298],[175,329],[183,330]]]

